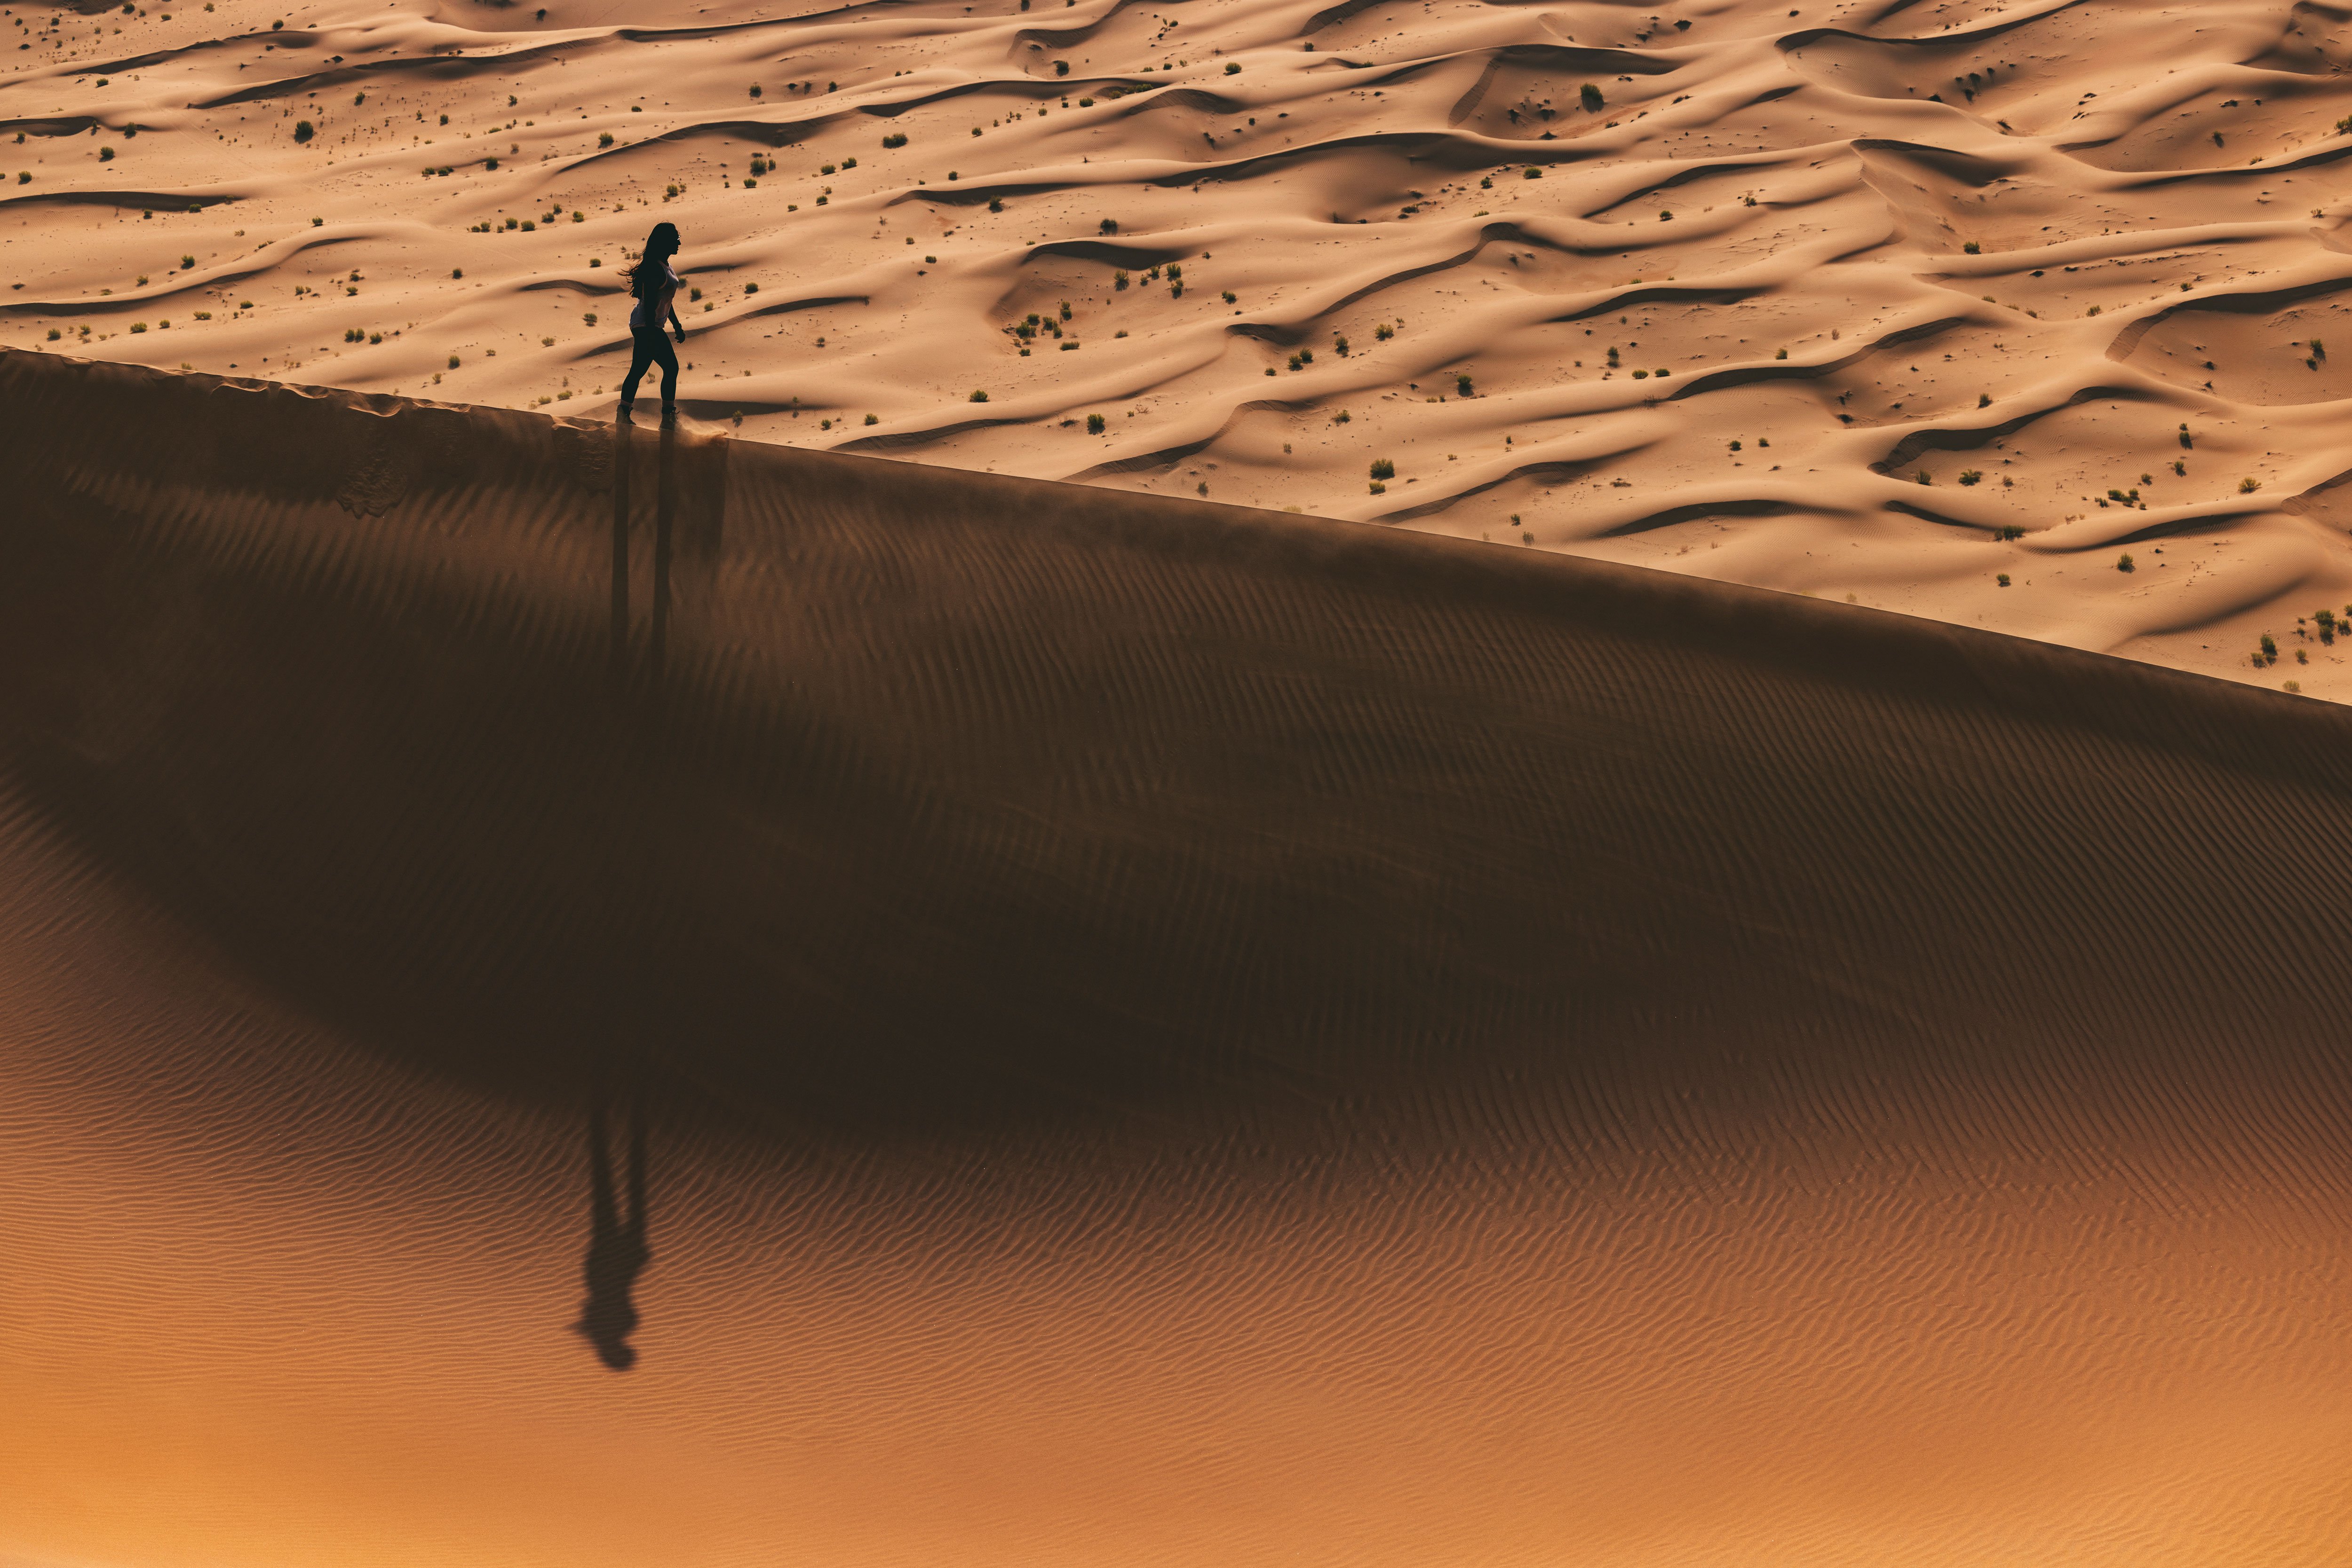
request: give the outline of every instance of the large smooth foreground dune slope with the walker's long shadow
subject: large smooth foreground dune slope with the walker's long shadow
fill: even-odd
[[[696,425],[0,397],[9,1563],[2352,1552],[2338,708]]]

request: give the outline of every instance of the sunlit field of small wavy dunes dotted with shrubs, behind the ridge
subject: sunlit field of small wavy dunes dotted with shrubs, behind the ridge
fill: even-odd
[[[7,19],[9,343],[609,409],[673,219],[769,442],[2352,696],[2345,7],[165,5]]]

